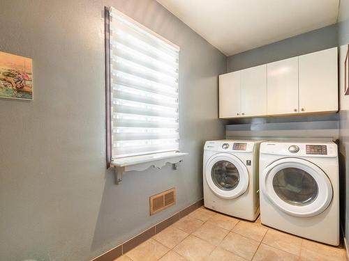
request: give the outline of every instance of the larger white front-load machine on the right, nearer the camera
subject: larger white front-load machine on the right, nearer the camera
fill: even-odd
[[[260,219],[272,228],[339,245],[339,159],[332,142],[260,145]]]

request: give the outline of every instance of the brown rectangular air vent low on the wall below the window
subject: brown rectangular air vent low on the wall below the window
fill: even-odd
[[[150,202],[150,215],[154,215],[157,212],[168,208],[176,203],[176,189],[169,189],[163,191],[149,198]]]

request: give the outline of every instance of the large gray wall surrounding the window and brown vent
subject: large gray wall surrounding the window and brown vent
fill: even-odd
[[[226,59],[154,0],[0,1],[0,50],[33,58],[34,101],[0,100],[0,260],[90,260],[202,198],[202,148],[222,139]],[[103,8],[181,47],[177,171],[105,170]],[[177,205],[149,216],[149,196]]]

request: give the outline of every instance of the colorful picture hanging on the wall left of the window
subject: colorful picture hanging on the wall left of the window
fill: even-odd
[[[0,52],[0,98],[33,100],[31,58]]]

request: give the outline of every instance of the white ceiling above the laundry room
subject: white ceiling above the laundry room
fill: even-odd
[[[157,0],[226,56],[336,23],[339,0]]]

